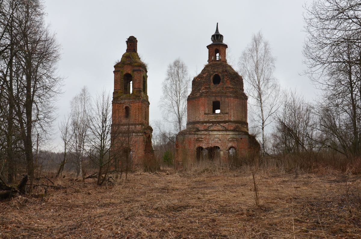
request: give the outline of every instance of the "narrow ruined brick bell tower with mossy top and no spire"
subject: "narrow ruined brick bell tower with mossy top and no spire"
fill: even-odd
[[[154,158],[147,66],[137,53],[138,40],[130,36],[126,43],[126,52],[114,65],[112,101],[112,152],[123,170]]]

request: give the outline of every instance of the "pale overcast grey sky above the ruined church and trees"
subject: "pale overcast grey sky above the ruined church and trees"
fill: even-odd
[[[305,69],[304,4],[305,0],[45,0],[47,21],[62,45],[59,73],[66,77],[59,118],[68,113],[70,100],[84,85],[93,96],[103,87],[113,91],[114,63],[133,35],[148,64],[149,119],[160,119],[158,101],[168,64],[180,57],[192,78],[199,73],[207,63],[206,45],[217,22],[235,70],[252,34],[261,30],[277,58],[275,77],[281,86],[297,87],[311,100],[316,90],[299,75]]]

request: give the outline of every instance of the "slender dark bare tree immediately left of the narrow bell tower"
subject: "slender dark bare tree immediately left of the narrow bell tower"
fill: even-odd
[[[103,90],[94,99],[89,121],[88,135],[90,159],[99,167],[97,185],[101,185],[106,178],[112,157],[110,156],[112,125],[112,98],[110,93]],[[104,175],[104,176],[103,176]],[[102,181],[103,176],[103,181]]]

